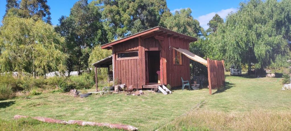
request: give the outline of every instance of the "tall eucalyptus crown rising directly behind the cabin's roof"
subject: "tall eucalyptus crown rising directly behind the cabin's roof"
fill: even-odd
[[[165,0],[100,0],[100,6],[109,40],[158,26],[170,14]]]

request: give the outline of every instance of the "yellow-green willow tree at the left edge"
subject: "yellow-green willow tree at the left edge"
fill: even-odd
[[[0,71],[43,75],[64,71],[64,39],[42,20],[6,16],[0,28]]]

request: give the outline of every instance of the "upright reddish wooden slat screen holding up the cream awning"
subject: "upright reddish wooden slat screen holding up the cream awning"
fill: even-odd
[[[209,58],[207,58],[207,69],[209,94],[211,95],[212,89],[219,89],[219,87],[224,86],[224,61],[210,60]]]

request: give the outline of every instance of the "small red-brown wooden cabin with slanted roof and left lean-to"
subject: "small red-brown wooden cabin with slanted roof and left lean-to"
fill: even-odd
[[[181,77],[190,81],[190,59],[175,49],[189,50],[194,41],[197,38],[157,26],[102,45],[112,56],[93,65],[95,70],[112,65],[113,79],[136,89],[181,86]]]

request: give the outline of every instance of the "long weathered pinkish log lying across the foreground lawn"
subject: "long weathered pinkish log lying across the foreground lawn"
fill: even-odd
[[[15,115],[14,119],[28,118],[28,117],[29,116]],[[117,128],[117,129],[129,130],[129,131],[139,130],[138,128],[136,128],[136,127],[134,127],[132,125],[98,123],[98,122],[76,121],[76,120],[63,121],[63,120],[56,120],[56,119],[52,119],[52,118],[46,118],[46,117],[31,117],[31,118],[36,119],[38,121],[47,122],[47,123],[77,124],[77,125],[82,125],[82,126],[84,126],[84,125],[106,126],[106,127],[109,127],[109,128]]]

